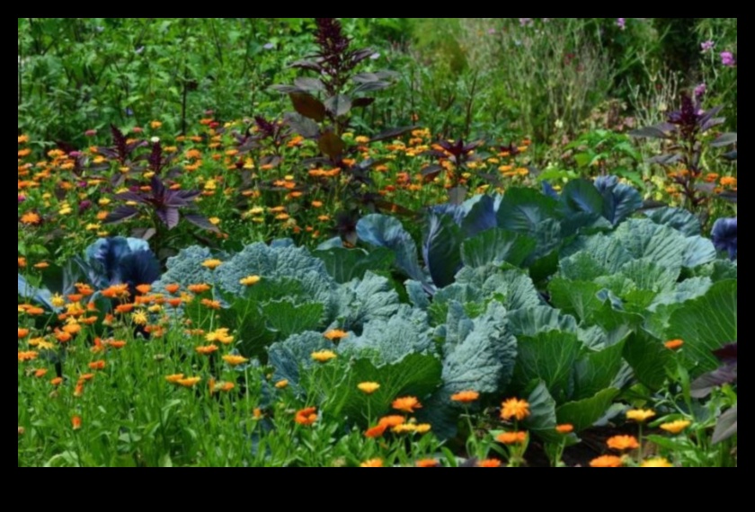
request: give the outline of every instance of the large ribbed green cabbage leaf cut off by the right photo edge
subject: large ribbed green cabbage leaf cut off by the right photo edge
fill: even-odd
[[[737,340],[737,281],[715,283],[705,296],[676,310],[667,339],[684,340],[684,356],[699,364],[700,373],[718,366],[712,352]]]

